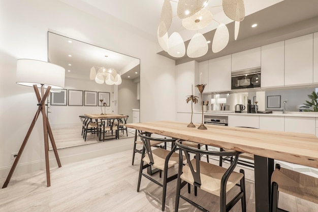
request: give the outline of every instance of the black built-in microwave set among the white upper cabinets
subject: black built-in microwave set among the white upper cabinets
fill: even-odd
[[[261,68],[232,72],[231,89],[260,88]]]

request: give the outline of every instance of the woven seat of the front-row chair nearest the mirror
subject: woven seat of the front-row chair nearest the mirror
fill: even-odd
[[[155,150],[151,150],[152,152],[152,157],[153,157],[153,167],[160,169],[160,170],[165,170],[165,159],[167,155],[170,153],[169,150],[157,148]],[[148,155],[146,154],[145,157],[142,159],[145,163],[150,164],[150,159]],[[179,163],[179,154],[178,153],[173,153],[169,159],[168,162],[168,168],[176,165]]]

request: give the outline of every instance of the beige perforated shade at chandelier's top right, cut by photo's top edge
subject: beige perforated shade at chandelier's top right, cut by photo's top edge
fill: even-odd
[[[245,6],[243,0],[222,0],[224,13],[234,21],[242,21],[245,18]]]

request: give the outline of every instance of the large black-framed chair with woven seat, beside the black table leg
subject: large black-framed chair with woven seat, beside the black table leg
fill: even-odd
[[[220,212],[229,211],[239,200],[241,200],[242,211],[246,211],[244,170],[241,169],[240,173],[233,171],[236,167],[238,157],[241,152],[214,152],[200,150],[183,145],[182,140],[180,139],[176,140],[175,145],[179,148],[180,151],[175,211],[178,211],[180,198],[200,210],[208,211],[204,207],[198,205],[194,201],[180,194],[181,189],[186,184],[194,185],[203,191],[219,196]],[[187,164],[185,166],[182,165],[184,157],[184,155],[182,155],[182,151],[184,152],[184,155],[187,159]],[[190,160],[189,153],[195,154],[196,158]],[[227,169],[201,161],[200,155],[202,154],[214,156],[233,156],[234,160],[231,163],[230,167]],[[183,180],[182,183],[181,180]],[[240,184],[238,185],[239,182]],[[227,203],[226,194],[234,186],[239,186],[240,192],[238,192],[238,194]]]

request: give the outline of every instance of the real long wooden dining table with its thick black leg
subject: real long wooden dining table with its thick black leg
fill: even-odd
[[[155,121],[126,124],[126,127],[255,155],[257,212],[270,210],[274,159],[318,168],[318,137],[313,134],[219,125],[206,125],[207,130],[199,130],[187,124]]]

